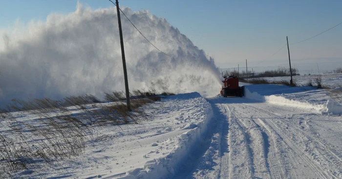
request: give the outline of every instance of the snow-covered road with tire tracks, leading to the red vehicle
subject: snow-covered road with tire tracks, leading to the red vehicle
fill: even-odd
[[[208,101],[211,144],[192,172],[175,178],[342,178],[340,116],[246,98]]]

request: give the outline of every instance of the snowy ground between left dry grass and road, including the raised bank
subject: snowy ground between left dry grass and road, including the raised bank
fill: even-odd
[[[162,104],[157,102],[147,108],[150,116],[148,121],[94,128],[94,135],[98,136],[98,140],[89,140],[86,143],[84,155],[68,160],[55,160],[52,166],[41,162],[33,165],[33,168],[17,172],[15,177],[116,178],[124,176],[134,168],[137,168],[134,170],[136,175],[148,174],[148,178],[158,178],[162,174],[171,176],[174,172],[169,172],[178,170],[177,165],[188,154],[188,150],[200,142],[201,136],[207,131],[208,123],[212,119],[212,108],[196,92],[170,96],[163,99]],[[30,125],[42,125],[35,116],[22,112],[13,115]],[[166,164],[170,159],[172,162],[169,162],[167,170],[163,167],[159,168],[158,172],[139,169],[146,166],[158,169],[160,162]]]

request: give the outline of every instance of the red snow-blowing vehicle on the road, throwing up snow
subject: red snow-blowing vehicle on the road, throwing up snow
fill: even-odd
[[[224,77],[222,80],[223,86],[220,94],[223,97],[244,95],[244,86],[239,87],[239,79],[236,76]]]

